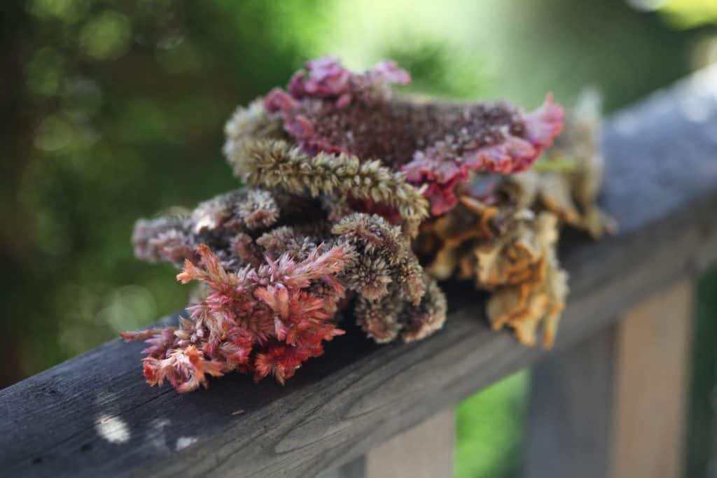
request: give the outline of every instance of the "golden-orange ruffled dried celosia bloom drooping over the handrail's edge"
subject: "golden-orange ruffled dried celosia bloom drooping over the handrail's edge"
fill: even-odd
[[[450,214],[426,224],[419,244],[427,252],[433,243],[427,271],[473,279],[491,292],[494,328],[511,327],[521,343],[533,345],[543,323],[543,345],[550,346],[568,292],[555,257],[557,238],[554,214],[462,197]]]

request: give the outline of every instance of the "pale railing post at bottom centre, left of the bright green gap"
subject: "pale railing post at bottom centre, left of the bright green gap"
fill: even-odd
[[[441,411],[320,478],[450,478],[455,413]]]

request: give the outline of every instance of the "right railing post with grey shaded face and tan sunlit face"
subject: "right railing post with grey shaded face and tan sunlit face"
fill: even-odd
[[[533,368],[526,477],[681,475],[692,298],[680,280]]]

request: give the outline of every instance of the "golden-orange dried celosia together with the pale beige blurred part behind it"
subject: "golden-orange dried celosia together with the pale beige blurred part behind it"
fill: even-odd
[[[435,277],[473,279],[490,291],[493,327],[513,328],[527,345],[536,342],[541,324],[543,345],[552,345],[564,308],[567,277],[555,250],[559,222],[594,237],[614,229],[596,204],[598,120],[594,103],[579,103],[536,171],[475,178],[455,209],[425,221],[414,242]]]

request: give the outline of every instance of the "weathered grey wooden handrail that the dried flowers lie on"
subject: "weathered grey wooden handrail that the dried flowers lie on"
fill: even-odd
[[[702,75],[609,120],[603,204],[622,229],[598,243],[566,234],[572,292],[556,349],[716,257],[717,69]],[[685,114],[690,102],[699,117]],[[0,391],[2,470],[310,477],[337,468],[546,354],[491,332],[470,285],[445,290],[440,333],[383,347],[349,333],[284,387],[230,375],[179,395],[143,382],[142,344],[107,343]]]

